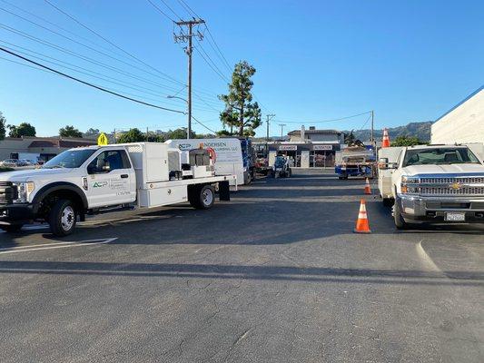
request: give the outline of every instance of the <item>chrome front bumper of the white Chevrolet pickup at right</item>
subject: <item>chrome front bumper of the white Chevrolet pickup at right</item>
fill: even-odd
[[[484,197],[450,199],[399,194],[395,202],[405,221],[445,221],[445,213],[455,211],[465,213],[465,223],[484,223]]]

